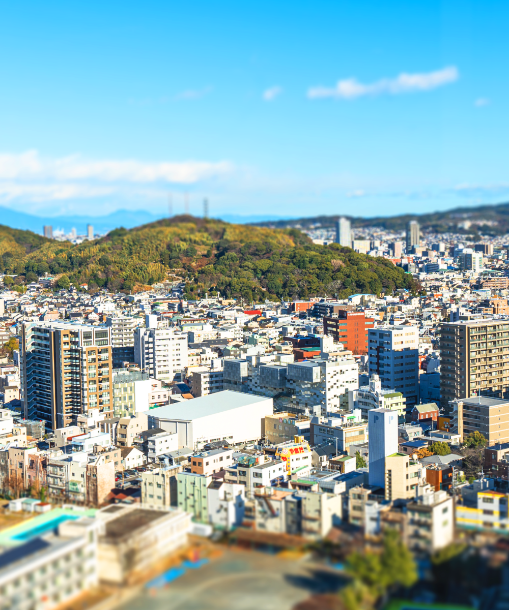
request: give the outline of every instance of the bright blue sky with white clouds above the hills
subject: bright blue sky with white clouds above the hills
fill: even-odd
[[[1,2],[0,206],[298,217],[509,197],[507,2]]]

